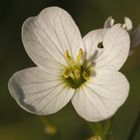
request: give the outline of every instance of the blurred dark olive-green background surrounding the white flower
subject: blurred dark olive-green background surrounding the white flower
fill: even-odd
[[[34,66],[21,42],[22,23],[48,6],[66,9],[83,36],[103,27],[108,16],[118,22],[128,16],[135,27],[140,23],[140,0],[0,0],[0,140],[86,140],[92,134],[87,122],[68,104],[60,112],[48,116],[59,133],[46,135],[38,116],[22,110],[8,92],[7,82],[12,74]],[[140,140],[140,117],[137,119],[140,112],[140,47],[121,71],[129,79],[131,91],[127,102],[115,115],[113,140]]]

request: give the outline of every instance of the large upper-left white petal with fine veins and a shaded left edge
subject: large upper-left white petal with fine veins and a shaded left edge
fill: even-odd
[[[50,7],[28,18],[22,27],[22,40],[31,59],[46,69],[47,61],[66,64],[64,53],[76,56],[83,48],[81,34],[71,16],[63,9]]]

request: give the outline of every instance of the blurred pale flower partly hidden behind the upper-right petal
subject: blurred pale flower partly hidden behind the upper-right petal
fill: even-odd
[[[111,28],[114,25],[115,20],[112,17],[108,17],[104,23],[104,28]],[[124,24],[117,23],[120,27],[125,29],[131,39],[130,55],[133,53],[133,49],[140,45],[140,26],[133,30],[133,24],[130,18],[124,18]]]

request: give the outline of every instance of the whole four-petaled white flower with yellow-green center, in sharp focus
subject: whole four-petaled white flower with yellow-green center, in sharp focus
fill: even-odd
[[[50,7],[24,22],[22,41],[37,67],[15,73],[8,86],[26,111],[48,115],[71,100],[81,117],[96,122],[125,102],[129,83],[118,70],[128,57],[130,39],[118,25],[82,39],[71,16]]]

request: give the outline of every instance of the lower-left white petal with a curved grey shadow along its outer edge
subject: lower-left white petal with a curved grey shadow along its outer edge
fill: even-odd
[[[60,77],[39,68],[28,68],[15,73],[8,83],[9,91],[26,111],[48,115],[63,108],[74,94]]]

